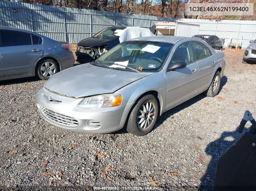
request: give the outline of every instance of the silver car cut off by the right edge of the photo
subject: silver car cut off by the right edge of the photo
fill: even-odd
[[[244,64],[256,63],[256,40],[250,40],[250,44],[244,50],[243,61]]]

